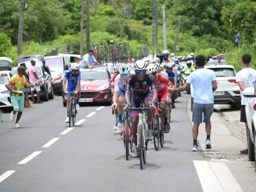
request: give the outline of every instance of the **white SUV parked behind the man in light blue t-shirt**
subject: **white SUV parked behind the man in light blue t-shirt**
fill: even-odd
[[[241,93],[238,83],[236,82],[236,70],[233,66],[217,65],[204,66],[215,72],[217,80],[217,90],[214,92],[214,104],[229,104],[234,109],[241,108]],[[193,84],[190,86],[191,91],[191,110],[193,110],[194,89]]]

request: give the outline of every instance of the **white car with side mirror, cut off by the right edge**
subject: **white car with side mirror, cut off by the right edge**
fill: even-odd
[[[248,157],[250,161],[256,160],[256,83],[254,87],[246,88],[242,92],[243,96],[248,97],[248,103],[245,106],[246,120],[247,120],[247,145]],[[255,161],[256,169],[256,161]]]

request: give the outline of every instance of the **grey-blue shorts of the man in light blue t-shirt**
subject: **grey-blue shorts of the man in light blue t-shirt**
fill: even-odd
[[[210,117],[214,113],[214,104],[199,104],[199,103],[193,103],[193,115],[192,115],[192,121],[196,124],[201,124],[202,119],[203,122],[209,122]],[[203,118],[204,115],[204,118]]]

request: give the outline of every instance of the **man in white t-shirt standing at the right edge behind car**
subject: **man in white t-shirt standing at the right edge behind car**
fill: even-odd
[[[249,63],[251,62],[251,56],[248,53],[243,54],[242,56],[242,66],[243,69],[237,73],[237,82],[238,85],[243,91],[245,88],[254,87],[254,83],[256,80],[256,71],[254,69],[251,69],[249,67]],[[246,134],[247,133],[247,120],[246,120],[246,114],[245,114],[245,105],[248,102],[248,98],[241,96],[241,116],[240,121],[245,123],[245,129]],[[240,152],[241,154],[248,154],[248,148],[247,150],[243,150]]]

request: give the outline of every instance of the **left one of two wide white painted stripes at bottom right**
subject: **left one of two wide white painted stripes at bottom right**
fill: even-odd
[[[207,161],[193,161],[204,192],[225,192]]]

